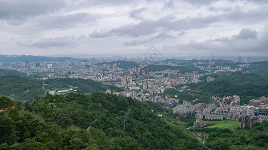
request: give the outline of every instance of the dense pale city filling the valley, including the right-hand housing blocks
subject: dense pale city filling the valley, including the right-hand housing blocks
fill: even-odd
[[[174,68],[176,68],[176,66],[181,66],[172,61],[165,61],[165,59],[159,59],[154,62],[145,60],[142,61],[143,63],[139,63],[142,56],[121,56],[120,58],[121,60],[117,60],[118,57],[94,57],[87,59],[65,60],[64,62],[30,62],[29,60],[25,62],[1,62],[0,68],[17,70],[27,74],[43,74],[43,77],[37,78],[41,80],[61,77],[82,78],[122,87],[124,88],[124,91],[113,91],[113,94],[132,97],[141,102],[149,100],[163,104],[164,106],[172,108],[173,112],[177,113],[178,118],[179,116],[195,117],[196,121],[192,126],[194,128],[210,125],[209,121],[204,122],[203,119],[232,119],[240,121],[240,128],[244,128],[245,126],[252,127],[256,122],[268,121],[268,101],[264,96],[257,100],[251,99],[249,100],[249,103],[240,105],[240,97],[237,95],[226,95],[222,98],[213,95],[211,97],[213,103],[201,102],[191,104],[191,102],[195,102],[198,99],[193,99],[188,102],[184,99],[178,99],[177,95],[172,95],[170,97],[162,94],[165,89],[175,89],[181,84],[184,86],[178,90],[191,90],[188,88],[187,84],[201,82],[199,78],[203,75],[208,75],[210,73],[223,74],[225,72],[231,73],[242,71],[243,68],[250,67],[250,63],[256,61],[254,59],[250,59],[249,57],[244,57],[242,59],[242,57],[239,56],[233,57],[232,60],[234,61],[208,58],[198,60],[193,59],[194,57],[187,57],[185,58],[186,60],[195,61],[192,63],[197,70],[194,69],[191,72],[182,72],[180,69],[164,69],[155,71],[154,68],[152,68],[153,65],[170,66]],[[136,62],[129,60],[136,60]],[[228,66],[228,63],[225,64],[225,66],[215,64],[215,61],[217,63],[219,60],[230,63],[230,66]],[[147,62],[150,62],[150,64]],[[215,81],[215,78],[207,76],[205,80],[210,82]],[[47,89],[47,91],[53,95],[72,92],[73,90],[76,91],[76,89],[68,89],[68,87],[66,87],[65,90]],[[110,89],[107,89],[105,92],[112,93]]]

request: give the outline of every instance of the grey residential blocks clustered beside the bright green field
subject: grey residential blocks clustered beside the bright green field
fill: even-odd
[[[183,104],[177,105],[173,111],[180,116],[193,116],[196,118],[194,128],[204,127],[208,125],[206,120],[222,120],[232,119],[240,122],[240,127],[252,127],[256,122],[268,121],[268,106],[263,105],[266,97],[262,96],[262,104],[259,107],[244,104],[240,105],[240,97],[238,95],[224,96],[223,98],[212,96],[212,101],[215,103],[198,103],[183,101]],[[230,103],[230,104],[228,104]],[[218,104],[218,107],[216,106]]]

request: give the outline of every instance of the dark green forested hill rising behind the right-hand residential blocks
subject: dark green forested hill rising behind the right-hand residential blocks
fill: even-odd
[[[218,96],[239,95],[243,96],[243,103],[248,103],[249,99],[260,96],[267,96],[268,78],[263,75],[253,73],[234,72],[230,75],[216,77],[215,81],[192,83],[189,88],[201,92],[209,92]]]

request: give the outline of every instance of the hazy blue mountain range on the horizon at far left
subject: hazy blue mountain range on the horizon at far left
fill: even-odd
[[[72,57],[49,57],[49,56],[35,56],[35,55],[3,55],[0,54],[0,62],[40,62],[40,61],[65,61],[73,60]]]

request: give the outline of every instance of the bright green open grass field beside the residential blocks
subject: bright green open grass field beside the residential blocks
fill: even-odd
[[[229,128],[231,130],[239,126],[239,121],[234,121],[230,119],[224,119],[220,121],[209,121],[210,124],[215,123],[214,125],[207,126],[205,128],[219,127],[219,128]]]

